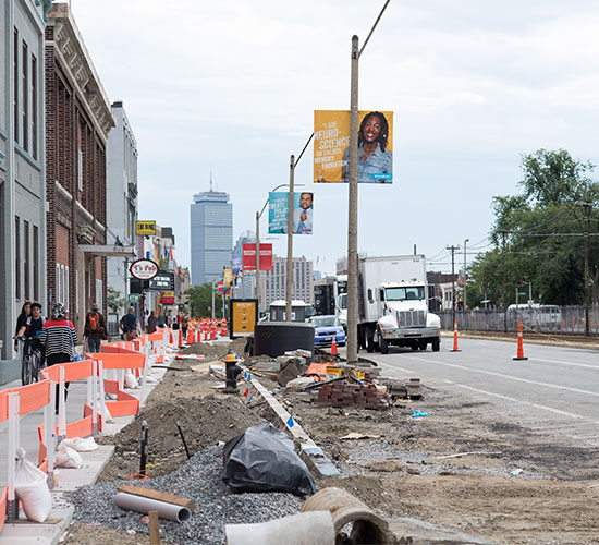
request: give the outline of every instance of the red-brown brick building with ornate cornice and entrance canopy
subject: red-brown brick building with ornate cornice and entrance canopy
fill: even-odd
[[[68,3],[46,26],[47,290],[78,331],[96,302],[106,313],[106,145],[111,105]],[[124,255],[118,252],[118,255]]]

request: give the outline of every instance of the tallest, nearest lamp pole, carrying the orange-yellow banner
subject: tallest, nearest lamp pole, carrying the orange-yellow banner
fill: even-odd
[[[351,88],[350,88],[350,180],[347,189],[347,363],[357,361],[357,132],[359,58],[375,32],[389,1],[384,2],[370,33],[358,48],[358,37],[352,36]]]

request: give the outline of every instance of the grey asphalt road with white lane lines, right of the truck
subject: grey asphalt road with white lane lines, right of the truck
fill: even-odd
[[[559,445],[599,446],[599,352],[525,344],[525,361],[514,361],[516,344],[460,339],[461,352],[390,348],[360,356],[376,361],[386,375],[420,377],[427,387],[482,402],[498,421],[513,422]]]

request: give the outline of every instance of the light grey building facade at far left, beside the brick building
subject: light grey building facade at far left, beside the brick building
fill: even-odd
[[[16,317],[45,301],[44,28],[51,2],[0,0],[0,360]],[[0,382],[11,379],[0,362]],[[19,370],[16,370],[19,372]]]

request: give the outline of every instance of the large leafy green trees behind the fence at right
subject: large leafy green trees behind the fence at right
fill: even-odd
[[[592,204],[589,233],[599,232],[599,184],[588,174],[590,162],[573,159],[564,149],[522,157],[522,193],[493,197],[496,221],[490,233],[493,249],[480,254],[468,274],[468,305],[484,306],[490,299],[503,303],[502,235],[506,240],[508,304],[516,302],[516,289],[542,304],[584,303],[584,219],[582,203]],[[598,300],[599,237],[589,237],[589,283]],[[527,295],[519,296],[519,303]]]

